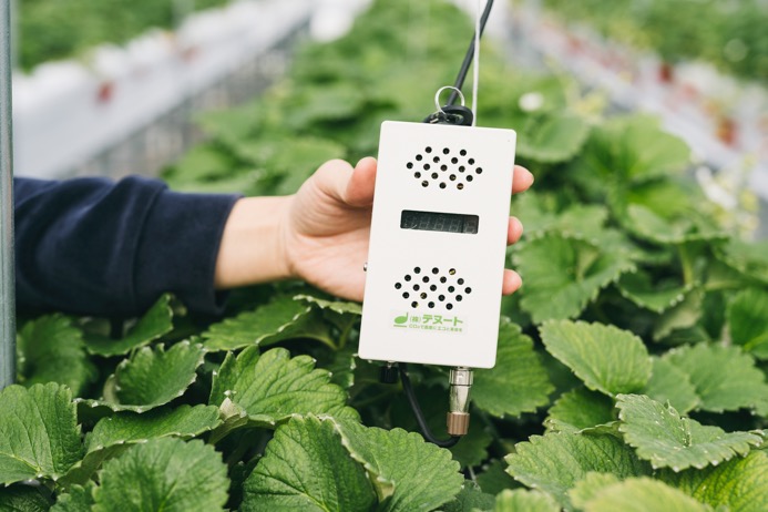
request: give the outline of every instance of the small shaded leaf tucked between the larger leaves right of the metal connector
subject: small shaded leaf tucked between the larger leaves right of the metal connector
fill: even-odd
[[[544,420],[547,430],[578,432],[615,421],[613,400],[586,388],[563,393]]]

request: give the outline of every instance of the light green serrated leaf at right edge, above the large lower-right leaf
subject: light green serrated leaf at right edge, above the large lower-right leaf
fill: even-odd
[[[734,411],[765,405],[766,376],[738,347],[699,344],[675,348],[662,358],[685,371],[700,399],[698,409]]]

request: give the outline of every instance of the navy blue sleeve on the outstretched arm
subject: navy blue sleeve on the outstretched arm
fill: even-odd
[[[238,196],[181,194],[157,180],[13,180],[20,309],[135,316],[164,291],[219,313],[214,273]]]

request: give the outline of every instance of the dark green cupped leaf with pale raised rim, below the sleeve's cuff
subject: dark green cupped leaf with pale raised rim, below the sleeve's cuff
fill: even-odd
[[[144,412],[184,395],[197,378],[205,350],[199,344],[181,341],[167,351],[162,345],[144,347],[124,359],[104,383],[104,398],[81,400],[90,407],[113,411]]]

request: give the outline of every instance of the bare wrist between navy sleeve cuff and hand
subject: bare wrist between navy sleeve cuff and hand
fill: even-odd
[[[293,196],[246,197],[224,226],[216,259],[217,289],[291,277],[284,224]]]

